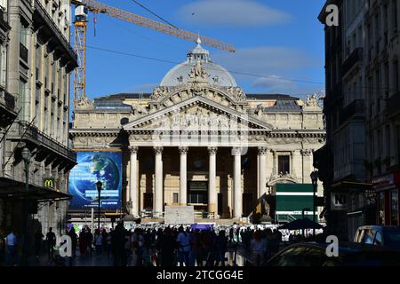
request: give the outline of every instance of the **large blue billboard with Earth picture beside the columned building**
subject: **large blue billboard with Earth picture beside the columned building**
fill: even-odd
[[[100,209],[120,209],[122,192],[121,152],[77,151],[77,165],[69,172],[68,193],[73,196],[69,209],[98,207],[96,183],[103,185]]]

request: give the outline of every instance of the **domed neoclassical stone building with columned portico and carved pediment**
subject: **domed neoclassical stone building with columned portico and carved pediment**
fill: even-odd
[[[199,41],[151,94],[79,101],[69,133],[78,151],[122,151],[133,216],[190,204],[227,218],[247,216],[276,183],[310,184],[325,138],[316,95],[245,94]]]

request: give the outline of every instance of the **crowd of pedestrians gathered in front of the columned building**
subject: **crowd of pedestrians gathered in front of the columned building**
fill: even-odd
[[[72,244],[71,265],[79,252],[80,257],[107,256],[116,266],[224,266],[228,248],[232,252],[240,248],[252,265],[260,266],[279,251],[283,241],[282,233],[276,229],[238,225],[207,229],[153,225],[126,229],[118,223],[115,228],[96,229],[94,233],[87,225],[79,232],[71,226],[66,233]],[[289,236],[289,240],[294,241],[294,236]],[[10,230],[6,237],[7,264],[17,263],[18,243]],[[54,255],[57,240],[52,228],[45,236],[37,230],[33,244],[37,258],[45,248],[49,264],[58,264],[60,257]]]

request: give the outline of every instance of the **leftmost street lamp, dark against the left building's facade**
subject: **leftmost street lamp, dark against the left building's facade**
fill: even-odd
[[[23,246],[22,246],[22,265],[28,265],[28,217],[29,217],[29,163],[32,158],[32,154],[27,147],[24,147],[21,152],[22,159],[25,163],[25,198],[22,214],[22,235],[23,235]]]

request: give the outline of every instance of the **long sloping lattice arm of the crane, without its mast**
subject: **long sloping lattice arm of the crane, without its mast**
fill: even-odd
[[[180,29],[174,28],[170,25],[166,25],[156,20],[151,20],[145,17],[141,17],[140,15],[133,14],[132,12],[127,12],[112,6],[108,6],[106,4],[102,4],[96,0],[72,0],[72,4],[76,5],[84,5],[89,11],[91,12],[99,12],[108,14],[111,17],[118,18],[120,20],[125,20],[128,22],[132,22],[134,24],[140,25],[146,28],[156,29],[160,32],[165,34],[169,34],[172,36],[177,36],[182,39],[187,39],[193,42],[196,42],[198,37],[197,34]],[[214,48],[223,50],[223,51],[230,51],[235,52],[235,47],[229,43],[223,43],[219,40],[213,39],[208,36],[200,36],[202,43],[208,46],[212,46]]]

